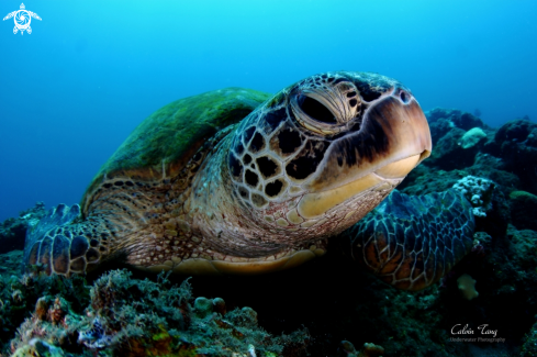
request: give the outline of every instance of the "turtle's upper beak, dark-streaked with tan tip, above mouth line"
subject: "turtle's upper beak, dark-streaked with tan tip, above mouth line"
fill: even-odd
[[[399,93],[393,89],[371,102],[359,130],[333,141],[305,185],[310,192],[335,189],[371,172],[404,177],[415,167],[405,159],[417,155],[417,165],[429,156],[433,145],[427,119],[414,98],[405,96],[403,101]]]

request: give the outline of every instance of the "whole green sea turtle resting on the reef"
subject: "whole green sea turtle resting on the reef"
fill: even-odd
[[[65,276],[107,259],[259,274],[321,256],[347,230],[356,259],[422,289],[470,249],[469,203],[454,192],[396,193],[363,217],[430,150],[417,101],[376,74],[316,75],[276,96],[228,88],[181,99],[139,124],[80,207],[52,209],[29,231],[24,261]]]

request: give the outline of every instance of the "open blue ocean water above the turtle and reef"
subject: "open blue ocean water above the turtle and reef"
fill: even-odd
[[[0,15],[19,10],[0,2]],[[535,1],[27,1],[0,23],[0,221],[76,203],[148,114],[236,86],[377,71],[422,107],[535,120]]]

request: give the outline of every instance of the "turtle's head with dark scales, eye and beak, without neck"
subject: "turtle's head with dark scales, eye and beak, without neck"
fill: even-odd
[[[430,150],[427,120],[403,85],[339,71],[299,81],[253,112],[227,166],[236,196],[268,224],[328,235],[373,209]]]

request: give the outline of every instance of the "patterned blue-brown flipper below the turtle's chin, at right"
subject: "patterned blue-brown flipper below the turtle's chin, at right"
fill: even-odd
[[[344,235],[353,257],[380,279],[417,291],[471,250],[473,230],[472,207],[454,190],[418,197],[393,191]]]

